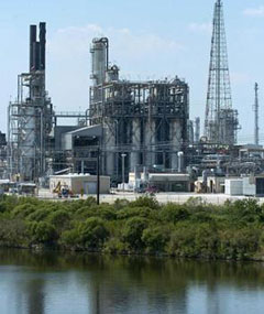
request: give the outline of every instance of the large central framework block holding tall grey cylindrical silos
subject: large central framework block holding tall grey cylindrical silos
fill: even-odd
[[[138,166],[177,171],[179,151],[188,144],[189,88],[177,77],[170,82],[127,82],[108,64],[108,40],[92,42],[94,85],[90,122],[102,124],[102,173],[122,178]],[[114,174],[114,175],[113,175]]]

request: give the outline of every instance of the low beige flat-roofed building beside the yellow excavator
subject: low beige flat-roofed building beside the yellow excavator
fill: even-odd
[[[97,193],[97,176],[89,174],[64,174],[51,175],[50,191],[53,192],[57,184],[67,186],[74,194],[96,194]],[[100,176],[100,194],[110,193],[110,177]]]

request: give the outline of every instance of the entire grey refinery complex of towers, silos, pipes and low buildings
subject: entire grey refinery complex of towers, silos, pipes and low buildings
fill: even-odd
[[[87,110],[56,111],[46,90],[46,24],[30,26],[29,72],[18,76],[7,137],[0,133],[6,186],[95,194],[100,175],[101,193],[116,188],[264,196],[258,85],[252,112],[255,141],[240,145],[221,0],[215,3],[204,121],[190,120],[188,78],[175,73],[173,79],[121,79],[119,65],[110,61],[111,40],[98,37],[89,44]]]

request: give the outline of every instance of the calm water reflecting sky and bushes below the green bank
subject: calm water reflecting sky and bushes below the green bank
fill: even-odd
[[[264,264],[0,250],[0,313],[264,313]]]

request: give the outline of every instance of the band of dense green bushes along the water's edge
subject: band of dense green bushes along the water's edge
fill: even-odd
[[[47,202],[0,198],[0,246],[180,258],[264,260],[264,206],[254,199],[222,206],[190,198]]]

